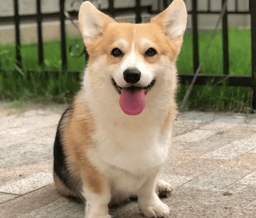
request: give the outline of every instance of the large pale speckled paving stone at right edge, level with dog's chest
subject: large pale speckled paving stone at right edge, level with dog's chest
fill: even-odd
[[[255,148],[256,148],[256,134],[241,140],[233,141],[221,148],[218,148],[208,153],[205,157],[231,160],[248,151],[254,150]]]

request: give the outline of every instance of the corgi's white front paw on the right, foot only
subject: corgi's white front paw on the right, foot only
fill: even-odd
[[[169,215],[169,207],[161,201],[153,206],[147,206],[139,209],[145,217],[168,218]]]

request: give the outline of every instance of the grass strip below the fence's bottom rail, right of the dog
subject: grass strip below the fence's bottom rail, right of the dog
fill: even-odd
[[[180,105],[189,85],[180,85],[177,104]],[[184,111],[215,111],[251,113],[252,88],[217,85],[195,85],[184,106]]]

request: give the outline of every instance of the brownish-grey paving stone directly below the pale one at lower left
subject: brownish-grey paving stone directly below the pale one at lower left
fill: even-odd
[[[0,211],[9,211],[10,213],[19,213],[21,215],[29,213],[38,207],[57,201],[60,198],[62,197],[59,196],[54,185],[50,184],[34,192],[29,192],[15,198],[12,201],[0,204]],[[18,216],[15,218],[17,217]]]

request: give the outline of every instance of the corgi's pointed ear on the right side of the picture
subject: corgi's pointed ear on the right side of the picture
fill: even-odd
[[[151,22],[160,25],[172,40],[182,40],[187,25],[187,10],[183,0],[174,0],[171,5]]]

